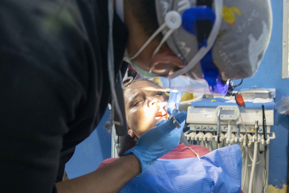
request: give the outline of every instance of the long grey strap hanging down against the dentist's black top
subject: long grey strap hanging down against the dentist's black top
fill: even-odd
[[[108,1],[108,18],[109,18],[109,34],[108,34],[108,76],[110,81],[110,91],[112,95],[112,104],[116,109],[116,113],[119,117],[120,122],[114,122],[114,108],[112,108],[111,114],[112,114],[112,120],[111,122],[114,122],[118,125],[123,125],[123,117],[121,114],[121,109],[118,104],[117,95],[115,91],[115,79],[114,79],[114,53],[113,53],[113,39],[112,39],[112,24],[113,24],[113,0]],[[121,76],[121,75],[119,75]]]

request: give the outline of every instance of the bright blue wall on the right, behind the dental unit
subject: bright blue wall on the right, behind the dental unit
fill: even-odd
[[[289,79],[282,79],[282,27],[283,27],[283,1],[271,0],[273,11],[273,30],[271,40],[266,50],[263,61],[257,73],[245,79],[242,88],[276,88],[275,102],[282,96],[289,96]],[[235,83],[238,83],[236,80]],[[282,188],[287,179],[288,157],[288,124],[289,116],[274,113],[274,126],[271,131],[275,132],[276,139],[270,141],[269,156],[269,184]]]

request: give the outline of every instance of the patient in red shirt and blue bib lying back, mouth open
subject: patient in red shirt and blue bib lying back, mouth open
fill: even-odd
[[[138,80],[131,85],[158,87],[147,80]],[[130,89],[130,87],[124,87],[123,92],[128,135],[135,141],[145,131],[154,128],[157,122],[168,119],[168,113],[164,109],[168,96],[164,92]],[[185,146],[184,143],[181,143],[152,163],[142,177],[134,178],[127,183],[120,192],[240,192],[241,172],[231,172],[231,169],[242,169],[242,157],[236,155],[239,156],[238,160],[230,162],[234,158],[235,152],[238,152],[238,148],[232,146],[223,150],[219,149],[215,154],[209,152],[208,148],[203,146]],[[202,159],[201,162],[196,156],[197,153]],[[217,161],[214,160],[216,157]],[[118,158],[106,159],[98,168],[116,159]],[[229,165],[222,168],[219,166],[220,164],[214,163],[220,161],[231,164],[231,168]],[[214,164],[212,165],[212,163]],[[226,163],[223,164],[226,165]],[[221,182],[220,179],[223,179],[224,182]],[[234,181],[234,183],[226,186],[226,179]],[[134,189],[135,186],[139,189]]]

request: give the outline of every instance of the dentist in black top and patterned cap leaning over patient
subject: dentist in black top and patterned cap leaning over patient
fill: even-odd
[[[208,77],[206,72],[214,68],[217,76],[205,81],[208,82],[206,85],[209,85],[209,89],[215,91],[217,83],[221,82],[225,87],[229,78],[252,76],[260,64],[262,53],[251,61],[252,57],[247,57],[244,53],[256,52],[247,52],[237,44],[238,50],[244,50],[239,59],[244,62],[249,58],[249,65],[238,62],[241,64],[236,66],[239,71],[228,71],[235,62],[230,63],[228,60],[218,64],[220,72],[209,65],[203,75],[199,64],[190,63],[193,55],[185,55],[182,50],[178,53],[178,49],[173,48],[171,39],[168,39],[170,35],[183,29],[181,23],[177,26],[170,25],[167,33],[163,31],[168,26],[162,25],[164,18],[160,19],[160,13],[163,12],[159,7],[160,1],[156,1],[159,14],[155,14],[154,1],[120,2],[122,1],[0,1],[1,191],[116,192],[130,179],[141,175],[151,162],[179,144],[186,113],[175,115],[180,128],[167,121],[145,132],[136,146],[117,161],[90,174],[55,184],[56,178],[63,174],[64,164],[72,156],[73,148],[88,137],[101,120],[111,94],[112,102],[116,102],[116,95],[120,93],[115,93],[112,84],[121,68],[125,49],[134,68],[147,75],[176,76],[176,73],[181,73],[180,69],[184,69],[183,73],[191,77]],[[222,3],[214,1],[216,18],[209,18],[215,21],[211,26],[214,32],[218,32],[224,24],[220,19],[220,2]],[[244,6],[262,10],[258,17],[264,20],[264,33],[262,30],[256,34],[252,32],[250,38],[262,37],[261,41],[258,39],[261,43],[257,48],[258,51],[263,51],[269,41],[266,32],[271,31],[270,16],[266,17],[264,9],[269,5],[262,2],[262,7],[257,6],[257,2],[248,2],[244,4],[243,1],[238,1],[241,11],[244,11]],[[118,13],[113,12],[114,9]],[[206,11],[211,13],[210,9]],[[180,14],[170,12],[169,15],[173,17],[169,18],[172,20],[168,20],[168,24],[170,21],[180,21],[175,20],[180,19]],[[261,22],[254,21],[252,20],[252,25],[262,29]],[[236,19],[235,23],[238,22],[241,21]],[[227,23],[224,25],[227,26]],[[158,28],[159,32],[163,31],[163,36],[159,34],[149,39]],[[255,29],[252,26],[248,28]],[[242,30],[242,34],[246,34],[247,29]],[[178,32],[187,33],[184,30]],[[224,37],[230,35],[229,32],[228,29]],[[193,34],[194,31],[190,33]],[[204,34],[204,37],[208,37],[206,49],[212,47],[216,34]],[[218,38],[216,42],[222,39]],[[146,43],[148,39],[150,41]],[[188,42],[195,40],[194,36],[187,39]],[[238,36],[238,40],[243,39],[248,38]],[[186,44],[190,50],[196,45],[197,41]],[[202,49],[203,47],[200,48],[201,53],[194,54],[204,54],[206,49]],[[222,56],[226,56],[228,50],[234,52],[226,44],[218,44],[218,47],[224,48]],[[216,58],[215,54],[213,48],[212,56]],[[219,59],[217,57],[216,62]],[[187,70],[186,67],[190,67],[190,64],[195,67]],[[231,76],[228,72],[231,72]],[[119,110],[118,105],[116,110]],[[151,144],[154,145],[150,146]]]

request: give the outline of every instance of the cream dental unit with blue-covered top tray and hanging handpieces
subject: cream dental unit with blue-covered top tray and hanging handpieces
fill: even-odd
[[[185,136],[190,144],[197,142],[211,151],[239,144],[243,157],[241,189],[249,193],[252,190],[255,193],[262,193],[264,188],[264,192],[268,192],[268,144],[270,139],[275,139],[275,133],[270,132],[270,126],[274,124],[274,99],[252,100],[245,103],[246,107],[243,108],[236,102],[223,98],[192,102],[191,106],[188,106],[186,123],[189,130],[185,132]],[[264,135],[265,133],[267,135]],[[250,171],[253,171],[253,174],[250,174]]]

